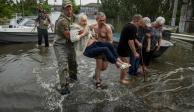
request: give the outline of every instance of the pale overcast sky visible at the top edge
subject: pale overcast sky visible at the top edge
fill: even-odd
[[[54,2],[56,1],[56,2]],[[62,0],[48,0],[49,4],[56,4],[56,5],[61,5],[62,4]],[[75,0],[76,4],[79,5],[80,4],[80,0]],[[96,3],[97,0],[81,0],[81,4],[85,5],[88,3]]]

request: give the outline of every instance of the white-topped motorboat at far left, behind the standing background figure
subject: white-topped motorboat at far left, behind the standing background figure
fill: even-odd
[[[15,20],[17,21],[17,20]],[[37,42],[38,33],[34,28],[35,18],[25,17],[20,19],[20,22],[9,25],[9,27],[0,27],[0,42],[1,43],[26,43]],[[54,33],[51,29],[48,30],[49,40],[54,39]]]

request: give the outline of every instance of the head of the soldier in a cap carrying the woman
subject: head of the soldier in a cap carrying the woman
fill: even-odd
[[[64,12],[64,14],[68,17],[72,16],[72,3],[69,0],[64,0],[63,4],[62,4],[62,11]]]

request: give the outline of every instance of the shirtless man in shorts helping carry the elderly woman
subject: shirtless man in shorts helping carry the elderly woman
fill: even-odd
[[[103,12],[98,12],[96,15],[97,23],[92,25],[92,29],[95,32],[95,38],[97,41],[101,42],[110,42],[112,43],[112,29],[106,24],[106,15]],[[101,79],[100,73],[101,71],[106,70],[108,67],[108,62],[105,56],[100,55],[96,58],[96,70],[95,70],[95,79],[96,79],[96,87],[101,88]]]

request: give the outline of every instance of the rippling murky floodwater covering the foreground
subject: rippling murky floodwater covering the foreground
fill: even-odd
[[[107,89],[96,90],[92,76],[95,60],[78,58],[79,80],[71,94],[61,96],[53,47],[36,44],[0,46],[0,112],[193,112],[194,47],[175,42],[152,61],[146,81],[129,77],[118,82],[114,65],[103,72]]]

